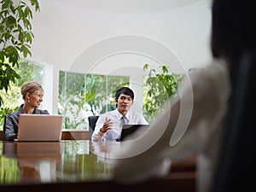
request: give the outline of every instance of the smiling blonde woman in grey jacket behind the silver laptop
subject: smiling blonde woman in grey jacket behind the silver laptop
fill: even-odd
[[[20,113],[49,114],[47,110],[39,109],[43,102],[44,90],[36,81],[28,81],[21,86],[20,93],[24,103],[18,111],[5,115],[3,124],[3,140],[13,141],[17,138]]]

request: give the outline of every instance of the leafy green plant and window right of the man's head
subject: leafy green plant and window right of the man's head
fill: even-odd
[[[144,79],[143,109],[144,116],[151,122],[160,108],[175,95],[178,84],[183,79],[184,74],[171,73],[168,67],[160,66],[160,72],[154,68],[149,68],[148,64],[143,66],[144,71],[148,71],[148,76]]]

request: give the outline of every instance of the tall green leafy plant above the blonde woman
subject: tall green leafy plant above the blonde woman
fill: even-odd
[[[39,11],[38,0],[29,0],[31,7]],[[10,83],[20,79],[14,67],[19,67],[20,55],[32,55],[32,10],[24,1],[0,1],[0,90],[6,92]],[[0,96],[0,107],[3,98]]]

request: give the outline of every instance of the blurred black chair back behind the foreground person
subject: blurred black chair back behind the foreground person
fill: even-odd
[[[256,191],[256,51],[241,59],[212,192]]]

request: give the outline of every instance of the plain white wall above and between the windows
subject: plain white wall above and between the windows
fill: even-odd
[[[41,11],[34,13],[32,20],[32,60],[53,66],[53,113],[57,113],[60,69],[79,73],[122,72],[130,74],[134,84],[141,84],[138,76],[146,62],[187,71],[190,67],[204,67],[211,60],[209,0],[176,0],[187,2],[177,9],[172,7],[175,1],[154,1],[158,3],[157,10],[144,4],[150,9],[141,12],[136,7],[130,11],[114,9],[115,4],[103,9],[102,3],[96,7],[99,1],[95,1],[94,7],[91,1],[84,1],[85,6],[81,6],[82,2],[40,1]],[[165,4],[160,9],[161,2]],[[136,90],[138,87],[134,85]],[[140,102],[142,97],[139,95],[137,100]]]

